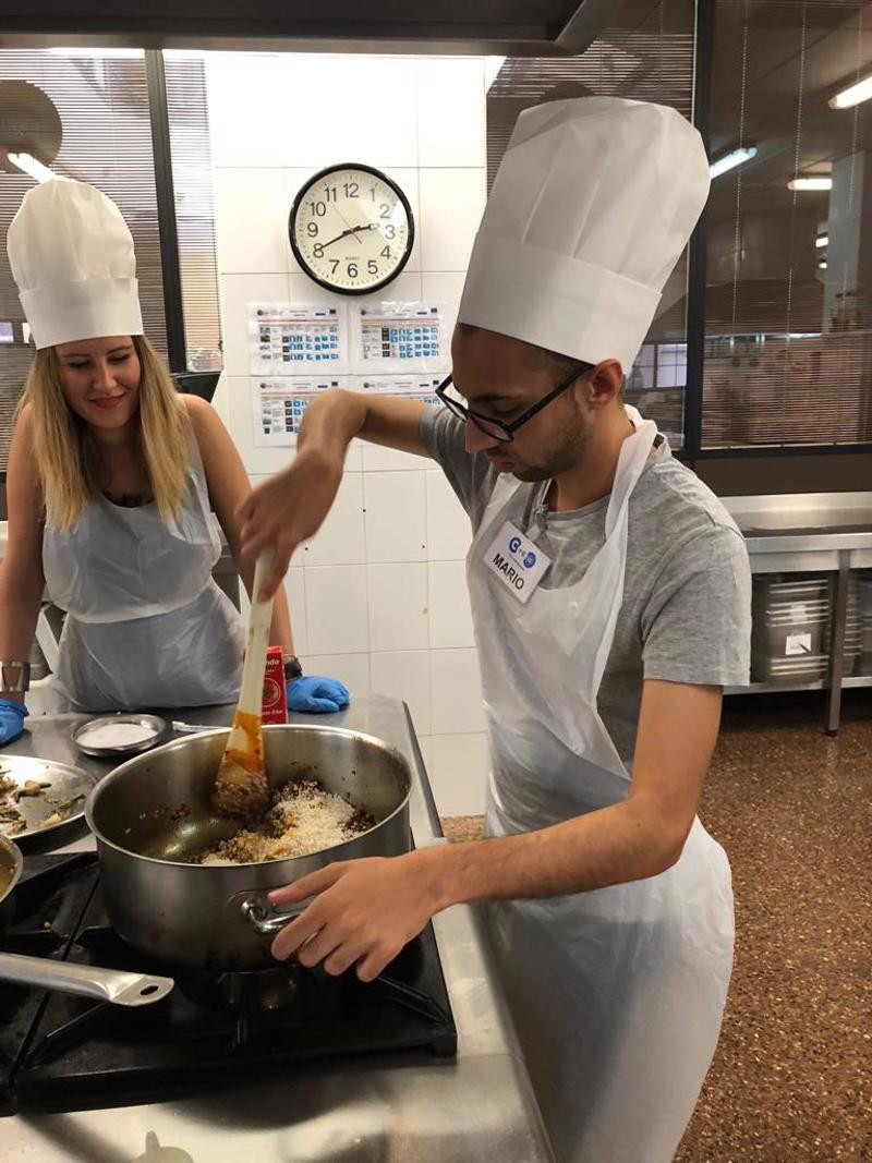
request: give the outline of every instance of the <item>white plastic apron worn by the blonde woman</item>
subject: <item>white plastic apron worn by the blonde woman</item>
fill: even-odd
[[[43,570],[66,611],[52,699],[58,711],[133,711],[234,702],[245,643],[240,614],[212,569],[221,540],[191,433],[183,508],[100,497],[70,528],[49,522]]]

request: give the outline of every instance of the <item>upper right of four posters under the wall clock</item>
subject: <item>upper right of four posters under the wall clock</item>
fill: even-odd
[[[358,374],[441,372],[451,361],[445,305],[377,302],[351,308],[350,363]]]

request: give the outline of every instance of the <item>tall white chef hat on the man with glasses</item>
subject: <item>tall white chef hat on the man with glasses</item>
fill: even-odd
[[[708,186],[702,140],[674,109],[606,97],[526,109],[458,319],[629,370]]]

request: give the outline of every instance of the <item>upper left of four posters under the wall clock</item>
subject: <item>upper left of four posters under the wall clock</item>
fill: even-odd
[[[348,371],[344,304],[250,302],[246,312],[252,376]]]

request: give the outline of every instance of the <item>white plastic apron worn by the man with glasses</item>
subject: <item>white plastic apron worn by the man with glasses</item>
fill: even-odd
[[[596,711],[623,598],[628,502],[656,427],[621,450],[606,543],[584,578],[526,606],[487,570],[524,492],[501,477],[467,557],[492,772],[486,830],[544,828],[623,800],[629,775]],[[669,530],[663,530],[669,536]],[[545,575],[545,582],[548,575]],[[669,1163],[717,1043],[732,963],[730,869],[699,820],[660,876],[487,909],[560,1163]]]

